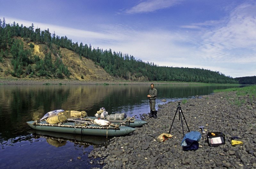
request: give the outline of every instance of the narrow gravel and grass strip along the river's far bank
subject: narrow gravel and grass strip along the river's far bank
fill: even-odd
[[[170,86],[207,86],[207,85],[228,85],[239,86],[240,84],[230,83],[202,83],[202,82],[181,82],[181,81],[125,81],[125,80],[109,80],[109,81],[80,81],[72,79],[21,79],[21,78],[1,78],[0,85],[157,85]]]

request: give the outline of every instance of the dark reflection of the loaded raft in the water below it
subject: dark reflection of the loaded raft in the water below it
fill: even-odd
[[[87,136],[35,129],[30,129],[28,132],[31,133],[35,139],[45,138],[47,143],[54,147],[64,146],[66,145],[67,141],[74,144],[84,145],[86,147],[90,145],[108,144],[108,138],[100,136]]]

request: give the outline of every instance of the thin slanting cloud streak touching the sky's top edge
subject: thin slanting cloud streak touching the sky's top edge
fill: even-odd
[[[125,11],[127,14],[153,12],[159,9],[169,8],[182,0],[147,0]]]

